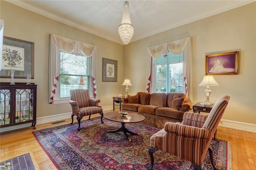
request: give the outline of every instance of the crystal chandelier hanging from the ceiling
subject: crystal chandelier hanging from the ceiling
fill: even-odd
[[[131,23],[130,13],[129,13],[129,2],[127,0],[124,2],[124,13],[123,13],[122,22],[118,28],[118,33],[125,45],[130,42],[134,33],[134,28]]]

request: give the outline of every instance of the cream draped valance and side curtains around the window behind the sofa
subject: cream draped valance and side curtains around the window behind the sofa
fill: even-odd
[[[167,53],[170,51],[173,54],[179,54],[183,51],[183,91],[192,100],[193,99],[193,86],[192,86],[192,44],[191,38],[184,38],[173,42],[163,43],[154,47],[148,47],[148,61],[147,61],[147,80],[146,80],[146,91],[154,93],[154,84],[151,83],[152,79],[152,57],[159,57],[164,53],[164,57],[167,57]],[[191,85],[191,86],[190,86]]]

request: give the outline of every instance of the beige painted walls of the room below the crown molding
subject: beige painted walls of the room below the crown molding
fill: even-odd
[[[124,46],[6,1],[0,1],[0,18],[5,24],[4,36],[34,42],[35,79],[31,82],[38,84],[38,117],[71,112],[68,103],[48,104],[50,34],[98,47],[98,98],[103,107],[112,105],[113,96],[125,93],[124,86],[121,85],[125,78],[132,83],[129,94],[145,91],[148,47],[190,36],[194,103],[205,99],[205,87],[198,86],[205,73],[205,55],[238,50],[238,75],[214,75],[220,86],[211,87],[210,101],[214,103],[222,95],[230,95],[230,103],[223,119],[256,124],[256,2]],[[118,82],[102,82],[102,58],[118,61]],[[10,82],[10,79],[1,78],[0,81]],[[15,79],[15,82],[26,82],[26,79]]]

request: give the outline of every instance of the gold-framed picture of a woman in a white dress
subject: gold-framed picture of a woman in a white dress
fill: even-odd
[[[238,51],[206,55],[206,75],[238,74]]]

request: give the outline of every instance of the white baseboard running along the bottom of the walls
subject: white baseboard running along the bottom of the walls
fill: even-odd
[[[102,107],[102,109],[103,109],[103,111],[110,111],[113,109],[113,106],[111,105],[111,106]],[[70,118],[71,118],[71,113],[62,113],[62,114],[58,114],[58,115],[38,117],[36,119],[36,125],[41,125],[44,123],[50,123],[50,122],[56,122],[56,121],[62,121],[64,119],[70,119]],[[6,132],[6,131],[10,131],[10,130],[16,130],[19,128],[31,127],[31,125],[32,125],[32,123],[27,123],[27,124],[22,124],[22,125],[0,128],[0,132]],[[244,122],[221,119],[219,126],[256,133],[256,124],[252,124],[252,123],[244,123]]]

